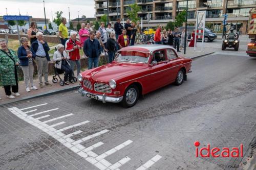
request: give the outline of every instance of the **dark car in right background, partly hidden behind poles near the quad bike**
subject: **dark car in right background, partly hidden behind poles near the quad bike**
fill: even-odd
[[[185,27],[179,27],[179,32],[181,33],[185,29]],[[191,34],[196,27],[187,27],[188,40],[191,39]],[[202,35],[202,33],[197,33],[197,35]],[[217,34],[212,32],[208,28],[204,28],[204,42],[210,42],[217,38]],[[198,40],[202,40],[202,38],[198,38]]]

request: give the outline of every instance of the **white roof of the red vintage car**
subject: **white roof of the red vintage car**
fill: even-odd
[[[148,52],[154,52],[156,50],[161,50],[165,48],[172,48],[172,46],[169,45],[158,45],[158,44],[141,44],[141,45],[133,45],[133,46],[127,46],[121,48],[120,51],[140,51],[143,53],[148,53]]]

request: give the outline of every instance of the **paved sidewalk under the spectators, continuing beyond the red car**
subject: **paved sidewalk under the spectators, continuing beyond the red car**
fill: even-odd
[[[214,49],[212,48],[204,48],[204,51],[201,52],[201,47],[197,47],[196,51],[194,51],[194,47],[187,47],[186,48],[186,55],[184,55],[184,50],[182,50],[181,52],[179,52],[180,56],[186,57],[186,58],[197,58],[197,57],[201,57],[201,56],[205,56],[205,55],[209,55],[214,53]],[[75,75],[76,75],[76,71],[75,71]],[[61,74],[60,77],[63,80],[63,76],[64,74]],[[49,82],[51,83],[52,86],[45,86],[43,88],[39,88],[39,84],[38,84],[38,78],[36,77],[34,79],[34,85],[38,88],[37,90],[30,90],[30,92],[26,91],[25,88],[25,82],[24,81],[19,81],[18,82],[18,92],[20,93],[20,96],[17,96],[15,99],[9,99],[6,97],[5,94],[5,90],[3,87],[0,87],[0,98],[2,98],[2,100],[0,100],[0,107],[4,106],[4,105],[8,105],[11,103],[15,103],[15,102],[20,102],[20,101],[24,101],[24,100],[28,100],[28,99],[34,99],[34,98],[38,98],[41,96],[47,96],[47,95],[52,95],[52,94],[56,94],[56,93],[61,93],[61,92],[66,92],[66,91],[71,91],[71,90],[76,90],[79,87],[79,81],[77,81],[74,84],[69,84],[69,85],[64,85],[64,86],[60,86],[59,84],[59,79],[57,83],[53,83],[52,82],[52,75],[50,75],[49,78]],[[44,80],[44,79],[43,79]]]

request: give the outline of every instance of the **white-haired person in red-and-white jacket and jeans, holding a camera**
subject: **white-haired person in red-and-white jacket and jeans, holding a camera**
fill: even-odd
[[[70,39],[66,41],[66,51],[69,52],[70,56],[70,67],[72,69],[72,76],[74,77],[74,67],[76,64],[77,75],[80,73],[81,63],[80,63],[80,53],[79,50],[82,47],[80,41],[76,39],[77,33],[71,32]]]

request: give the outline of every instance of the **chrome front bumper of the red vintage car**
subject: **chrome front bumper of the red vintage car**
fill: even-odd
[[[106,103],[106,102],[119,103],[123,100],[123,96],[113,97],[113,96],[106,96],[105,94],[103,94],[103,95],[94,94],[94,93],[84,90],[82,87],[80,87],[78,89],[78,93],[80,93],[82,96],[87,96],[87,93],[96,95],[96,96],[98,96],[98,101],[102,101],[103,103]]]

